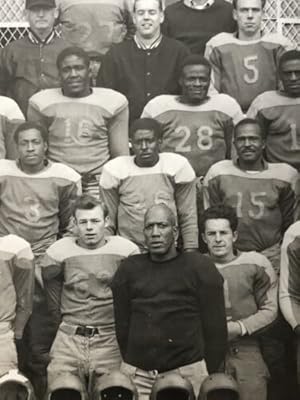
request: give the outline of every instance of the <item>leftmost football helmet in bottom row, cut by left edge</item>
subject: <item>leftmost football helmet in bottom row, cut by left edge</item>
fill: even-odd
[[[29,380],[17,370],[0,377],[0,400],[35,400]]]

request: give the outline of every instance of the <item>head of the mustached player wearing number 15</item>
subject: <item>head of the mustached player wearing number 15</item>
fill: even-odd
[[[240,121],[234,129],[234,146],[243,170],[261,170],[265,148],[264,128],[252,118]]]

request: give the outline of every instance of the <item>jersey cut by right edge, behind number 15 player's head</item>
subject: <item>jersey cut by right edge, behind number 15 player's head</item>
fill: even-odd
[[[266,157],[285,162],[300,171],[300,97],[268,91],[259,95],[248,110],[265,127]]]

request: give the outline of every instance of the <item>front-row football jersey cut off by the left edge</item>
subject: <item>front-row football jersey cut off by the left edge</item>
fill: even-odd
[[[17,339],[32,311],[33,258],[24,239],[11,234],[0,238],[0,324],[13,324]]]

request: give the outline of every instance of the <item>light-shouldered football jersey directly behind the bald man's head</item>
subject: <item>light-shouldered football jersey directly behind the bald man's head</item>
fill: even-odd
[[[100,187],[113,229],[145,248],[144,215],[165,203],[178,216],[184,248],[198,247],[195,174],[182,156],[161,153],[153,167],[141,168],[134,156],[117,157],[103,168]]]

